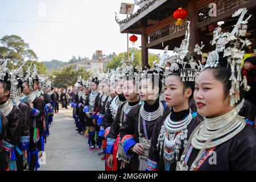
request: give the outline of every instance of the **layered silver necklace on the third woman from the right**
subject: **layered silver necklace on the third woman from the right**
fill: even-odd
[[[163,115],[163,111],[164,111],[164,107],[162,102],[159,102],[159,107],[156,111],[153,112],[148,112],[144,110],[144,103],[141,106],[140,109],[140,113],[141,113],[141,117],[145,120],[145,121],[154,121],[157,118],[159,118],[161,115]]]

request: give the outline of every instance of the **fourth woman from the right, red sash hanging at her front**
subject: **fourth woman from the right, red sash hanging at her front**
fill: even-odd
[[[126,65],[128,64],[126,63]],[[123,82],[123,93],[127,101],[118,108],[117,115],[109,131],[106,147],[106,153],[109,154],[107,163],[113,171],[130,169],[130,159],[127,158],[125,151],[123,151],[119,129],[125,122],[129,111],[141,104],[137,88],[139,85],[139,75],[135,69],[126,71],[125,81]]]

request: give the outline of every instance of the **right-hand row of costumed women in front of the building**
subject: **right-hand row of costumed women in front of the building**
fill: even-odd
[[[246,11],[232,32],[214,30],[216,49],[199,64],[186,58],[188,23],[174,61],[166,47],[155,68],[135,68],[131,56],[115,72],[79,77],[73,118],[89,149],[104,154],[106,171],[256,170],[255,91],[246,97],[255,62],[242,63]]]

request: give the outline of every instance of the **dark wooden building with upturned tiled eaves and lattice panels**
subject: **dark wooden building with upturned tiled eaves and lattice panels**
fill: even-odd
[[[216,16],[209,15],[212,9],[209,7],[210,3],[216,4]],[[232,18],[232,14],[242,7],[249,10],[248,15],[252,14],[246,37],[253,43],[250,51],[256,49],[256,0],[141,0],[141,8],[137,12],[124,20],[117,17],[115,20],[119,23],[121,33],[141,35],[142,65],[148,63],[148,49],[164,49],[168,45],[173,50],[180,46],[187,20],[181,26],[175,25],[176,19],[172,14],[179,7],[188,11],[187,20],[191,21],[189,51],[193,51],[195,44],[201,45],[201,42],[205,44],[203,52],[212,51],[214,47],[210,45],[210,40],[214,28],[218,26],[217,22],[225,21],[221,26],[222,31],[232,30],[238,19]]]

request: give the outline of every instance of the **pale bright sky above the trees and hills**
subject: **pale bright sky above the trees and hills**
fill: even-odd
[[[91,58],[127,51],[127,35],[120,33],[121,2],[133,0],[0,0],[0,38],[18,35],[39,61],[68,61],[72,55]],[[135,6],[136,11],[138,6]],[[130,43],[131,46],[131,43]],[[141,46],[141,36],[135,47]],[[151,53],[163,53],[151,49]]]

